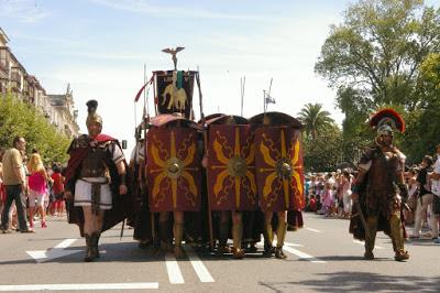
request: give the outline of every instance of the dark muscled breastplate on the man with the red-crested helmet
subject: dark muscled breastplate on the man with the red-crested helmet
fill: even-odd
[[[396,192],[395,182],[398,169],[398,155],[394,152],[376,151],[372,158],[369,171],[367,189],[393,194]]]

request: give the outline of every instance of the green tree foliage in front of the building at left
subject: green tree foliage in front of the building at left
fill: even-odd
[[[0,95],[0,146],[10,148],[22,135],[26,150],[37,149],[45,163],[65,162],[69,139],[57,131],[33,105],[20,101],[12,94]]]

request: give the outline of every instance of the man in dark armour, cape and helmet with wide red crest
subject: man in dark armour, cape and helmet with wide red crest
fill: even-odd
[[[409,258],[404,249],[402,206],[408,195],[404,184],[405,155],[393,144],[394,130],[405,131],[405,122],[393,109],[383,109],[370,119],[376,129],[374,143],[365,150],[359,162],[359,174],[353,186],[350,232],[365,240],[364,258],[374,259],[376,231],[388,235],[395,260]]]

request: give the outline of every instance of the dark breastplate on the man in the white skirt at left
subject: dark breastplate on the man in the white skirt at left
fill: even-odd
[[[106,165],[106,156],[109,155],[109,142],[92,146],[82,161],[80,177],[107,177],[109,169]]]

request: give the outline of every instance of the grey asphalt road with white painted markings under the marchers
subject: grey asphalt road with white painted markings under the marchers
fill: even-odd
[[[176,261],[139,249],[132,230],[121,239],[117,226],[101,237],[100,260],[85,263],[77,227],[52,217],[35,234],[0,235],[0,292],[440,291],[440,245],[430,238],[408,241],[411,258],[396,262],[389,238],[378,234],[376,259],[365,261],[348,220],[305,214],[305,224],[287,234],[287,260],[219,259],[185,247],[188,258]]]

